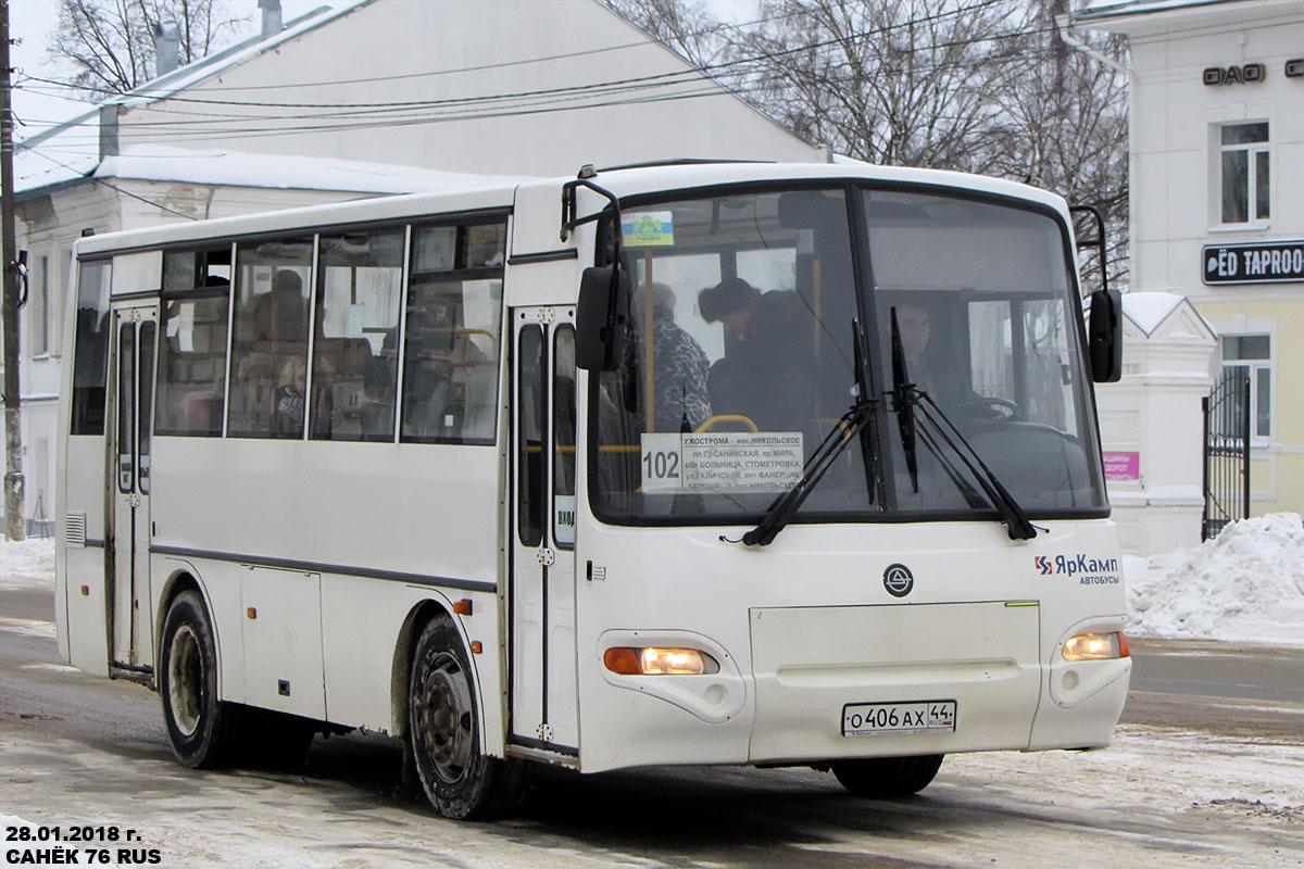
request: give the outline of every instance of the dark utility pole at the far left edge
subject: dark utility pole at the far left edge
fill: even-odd
[[[0,0],[0,272],[4,278],[5,535],[26,539],[22,522],[22,387],[18,382],[18,245],[13,218],[13,102],[9,0]]]

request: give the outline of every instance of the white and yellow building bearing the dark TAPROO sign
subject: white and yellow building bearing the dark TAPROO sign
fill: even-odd
[[[1209,374],[1249,374],[1252,512],[1304,512],[1304,3],[1098,0],[1073,22],[1131,43],[1133,289],[1189,298],[1219,335]]]

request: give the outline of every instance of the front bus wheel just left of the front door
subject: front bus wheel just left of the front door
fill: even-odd
[[[531,766],[480,750],[475,679],[458,629],[446,615],[421,631],[408,681],[408,740],[421,788],[434,810],[458,821],[515,812]]]

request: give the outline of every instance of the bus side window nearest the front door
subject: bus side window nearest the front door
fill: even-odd
[[[403,331],[402,439],[492,444],[505,224],[415,227]]]

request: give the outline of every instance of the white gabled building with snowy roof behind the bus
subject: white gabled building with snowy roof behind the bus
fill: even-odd
[[[85,232],[499,180],[464,173],[825,159],[600,0],[346,0],[284,30],[274,12],[265,38],[17,147],[29,517],[56,513],[61,326]]]

